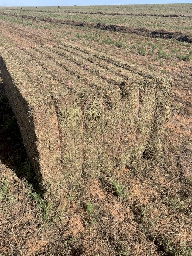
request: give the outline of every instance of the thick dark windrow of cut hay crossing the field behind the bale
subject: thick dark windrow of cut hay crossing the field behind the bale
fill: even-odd
[[[184,35],[182,32],[168,32],[165,30],[154,30],[150,31],[146,28],[129,28],[127,26],[118,26],[114,24],[107,25],[105,23],[86,23],[80,22],[75,20],[55,20],[51,18],[41,18],[41,17],[34,17],[34,16],[26,16],[26,15],[17,15],[13,13],[5,13],[0,12],[1,15],[9,15],[14,17],[26,18],[29,20],[40,20],[45,22],[52,22],[52,23],[59,23],[65,25],[72,25],[72,26],[83,26],[88,28],[96,28],[106,31],[115,31],[127,34],[136,34],[145,37],[152,37],[152,38],[165,38],[165,39],[175,39],[177,41],[188,42],[192,43],[192,36],[191,35]]]

